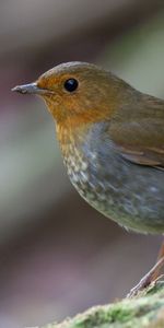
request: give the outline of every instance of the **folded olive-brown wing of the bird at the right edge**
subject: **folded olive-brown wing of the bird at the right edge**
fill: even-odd
[[[130,162],[164,167],[164,102],[150,97],[139,112],[130,112],[125,121],[114,120],[110,139]]]

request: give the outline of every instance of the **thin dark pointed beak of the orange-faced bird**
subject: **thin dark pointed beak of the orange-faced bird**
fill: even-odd
[[[28,93],[28,94],[38,94],[38,95],[52,93],[52,91],[50,90],[39,87],[36,82],[24,84],[24,85],[17,85],[13,87],[11,91],[19,92],[22,94]]]

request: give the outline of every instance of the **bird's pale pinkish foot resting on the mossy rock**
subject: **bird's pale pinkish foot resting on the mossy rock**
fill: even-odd
[[[164,256],[161,257],[155,266],[140,280],[140,282],[130,290],[127,297],[131,298],[136,296],[139,292],[143,291],[145,288],[148,288],[151,283],[156,283],[164,274],[159,274],[156,277],[156,272],[160,272],[162,267],[164,266]]]

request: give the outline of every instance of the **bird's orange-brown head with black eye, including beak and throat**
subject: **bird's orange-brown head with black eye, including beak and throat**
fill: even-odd
[[[109,118],[127,87],[122,80],[94,65],[67,62],[13,91],[42,96],[57,124],[78,127]]]

